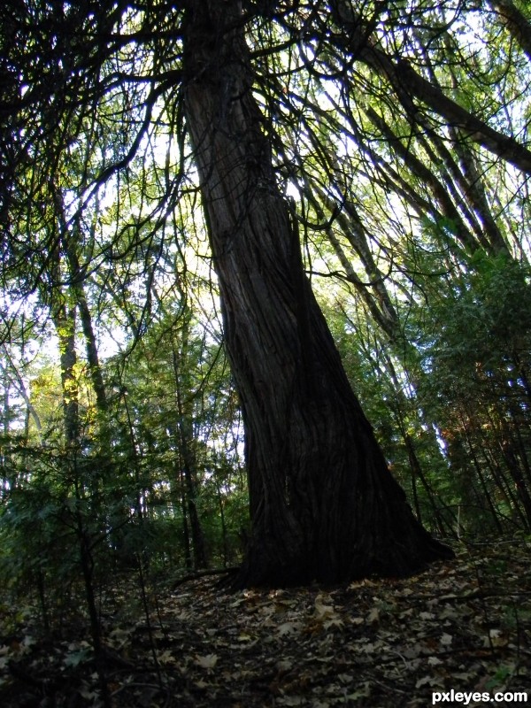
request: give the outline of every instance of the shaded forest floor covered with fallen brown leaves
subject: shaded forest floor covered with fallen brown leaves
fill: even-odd
[[[335,589],[228,593],[203,576],[151,589],[148,613],[138,583],[116,580],[100,598],[107,705],[531,704],[530,560],[527,538]],[[101,685],[81,610],[44,635],[35,607],[0,607],[2,708],[97,708]],[[489,705],[525,703],[506,699]]]

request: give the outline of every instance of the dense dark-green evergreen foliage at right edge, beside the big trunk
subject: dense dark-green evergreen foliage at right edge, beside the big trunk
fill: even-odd
[[[528,272],[507,253],[478,250],[453,290],[422,312],[419,396],[438,421],[469,530],[528,523],[525,496],[529,429],[531,290]],[[521,504],[521,505],[520,505]],[[517,508],[515,515],[515,507]]]

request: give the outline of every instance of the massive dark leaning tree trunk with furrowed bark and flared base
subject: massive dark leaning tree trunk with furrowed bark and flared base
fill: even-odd
[[[251,536],[236,584],[418,571],[451,551],[389,473],[304,275],[235,0],[189,4],[185,101],[245,424]]]

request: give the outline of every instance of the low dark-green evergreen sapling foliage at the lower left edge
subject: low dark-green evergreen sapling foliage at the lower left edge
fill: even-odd
[[[11,450],[12,456],[20,450]],[[48,630],[77,594],[80,534],[97,544],[94,504],[75,496],[78,482],[59,450],[23,450],[24,467],[6,494],[0,516],[0,574],[12,597],[33,596]],[[79,527],[81,519],[82,527]]]

